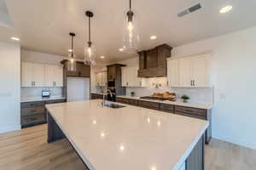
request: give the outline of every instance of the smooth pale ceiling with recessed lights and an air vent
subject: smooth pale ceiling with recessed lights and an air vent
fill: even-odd
[[[177,17],[178,12],[199,2],[200,10],[183,18]],[[73,31],[77,34],[75,54],[82,57],[88,38],[88,19],[84,11],[89,9],[95,13],[91,38],[96,44],[97,61],[128,59],[136,54],[119,52],[128,3],[128,0],[7,0],[15,29],[0,27],[0,41],[17,36],[22,48],[67,55],[70,48],[68,32]],[[219,14],[219,9],[227,4],[232,5],[233,10]],[[139,23],[140,49],[153,48],[164,42],[176,47],[256,26],[255,7],[253,0],[132,0]],[[151,35],[158,38],[152,41]],[[106,59],[100,59],[101,55]]]

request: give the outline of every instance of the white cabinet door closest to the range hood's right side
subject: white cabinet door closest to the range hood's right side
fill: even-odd
[[[178,59],[169,60],[167,63],[167,77],[170,88],[179,86]]]

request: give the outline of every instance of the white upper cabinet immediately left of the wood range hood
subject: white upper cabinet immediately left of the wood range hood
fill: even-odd
[[[143,87],[143,79],[137,77],[137,66],[122,67],[122,86],[123,87]]]

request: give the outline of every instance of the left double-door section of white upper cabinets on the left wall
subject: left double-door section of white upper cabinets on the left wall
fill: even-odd
[[[22,62],[21,87],[44,87],[44,65]]]

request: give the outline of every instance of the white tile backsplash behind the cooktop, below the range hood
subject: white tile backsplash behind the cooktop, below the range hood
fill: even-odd
[[[213,104],[213,88],[169,88],[166,77],[147,78],[143,80],[145,88],[126,88],[126,95],[131,95],[135,92],[136,96],[148,96],[154,93],[164,93],[166,91],[175,93],[177,100],[183,94],[189,96],[189,102],[198,104]],[[156,85],[158,88],[156,88]]]

